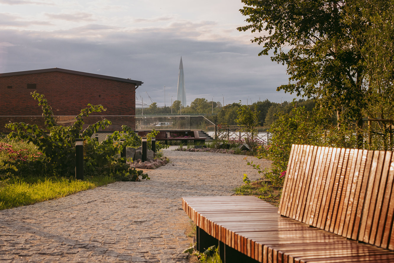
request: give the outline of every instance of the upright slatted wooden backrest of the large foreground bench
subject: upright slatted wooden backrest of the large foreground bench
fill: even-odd
[[[293,145],[279,213],[394,250],[394,155]]]

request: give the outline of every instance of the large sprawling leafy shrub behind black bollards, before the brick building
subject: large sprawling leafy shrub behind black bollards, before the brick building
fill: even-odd
[[[35,91],[31,94],[43,110],[45,129],[23,122],[8,123],[6,127],[13,131],[9,134],[9,138],[32,143],[43,153],[46,158],[44,166],[47,168],[47,173],[57,176],[73,176],[75,174],[75,139],[83,138],[86,175],[112,175],[123,181],[138,181],[139,175],[142,175],[143,179],[149,179],[147,175],[135,168],[130,168],[117,157],[124,145],[135,147],[141,143],[130,127],[122,126],[122,133],[115,131],[101,143],[92,140],[91,136],[100,128],[105,129],[111,124],[107,119],[89,125],[81,132],[84,117],[93,112],[105,111],[102,105],[88,104],[88,107],[82,109],[81,113],[75,117],[76,121],[72,125],[64,127],[56,123],[52,108],[48,105],[45,96]],[[118,142],[121,138],[126,139],[122,145]]]

